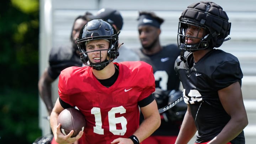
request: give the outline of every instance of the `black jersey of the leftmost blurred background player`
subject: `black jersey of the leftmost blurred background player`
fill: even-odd
[[[55,80],[60,71],[70,66],[82,66],[81,58],[76,51],[70,47],[55,47],[50,51],[48,74]]]

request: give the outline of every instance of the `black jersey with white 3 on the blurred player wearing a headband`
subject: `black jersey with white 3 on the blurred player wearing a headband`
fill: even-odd
[[[180,55],[180,49],[175,44],[163,46],[162,50],[154,55],[145,55],[142,49],[137,49],[140,60],[153,67],[155,85],[162,90],[178,90],[180,80],[174,70],[175,60]],[[168,105],[168,99],[162,105]],[[158,108],[162,108],[158,105]],[[181,122],[166,122],[161,120],[160,127],[152,135],[178,135]]]

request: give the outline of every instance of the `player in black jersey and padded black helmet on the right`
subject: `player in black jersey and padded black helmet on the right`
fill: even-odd
[[[245,144],[248,119],[239,60],[215,49],[230,39],[225,39],[230,33],[228,20],[222,7],[209,1],[189,5],[179,18],[182,52],[175,70],[188,108],[175,144],[188,143],[196,131],[195,144]]]

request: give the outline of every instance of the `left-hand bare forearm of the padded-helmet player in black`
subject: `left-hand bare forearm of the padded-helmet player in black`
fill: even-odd
[[[187,112],[181,124],[181,129],[176,139],[175,144],[187,144],[190,139],[196,133],[196,125],[194,124],[194,119],[190,112],[190,106],[187,107]]]

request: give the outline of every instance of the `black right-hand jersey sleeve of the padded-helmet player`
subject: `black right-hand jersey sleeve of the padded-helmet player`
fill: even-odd
[[[212,74],[217,90],[228,87],[236,81],[240,82],[243,77],[239,62],[225,62],[219,65]]]

